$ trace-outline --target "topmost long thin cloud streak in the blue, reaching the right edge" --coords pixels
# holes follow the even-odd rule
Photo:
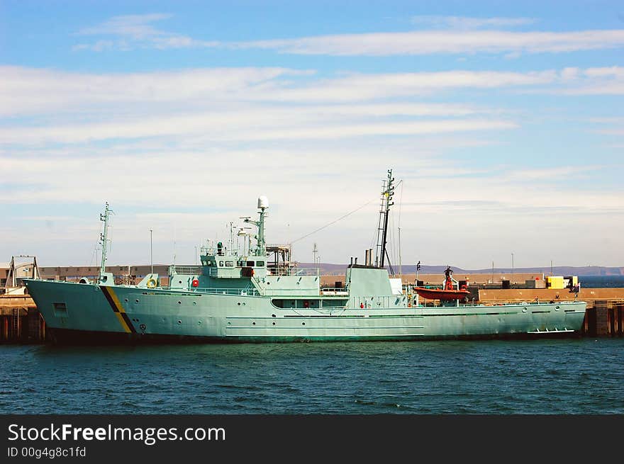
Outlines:
[[[170,15],[152,13],[136,16],[115,16],[98,26],[83,28],[78,35],[102,35],[114,39],[93,44],[80,43],[73,50],[132,50],[151,47],[226,48],[276,50],[296,55],[430,55],[436,53],[472,54],[503,53],[516,57],[520,53],[558,53],[603,50],[624,46],[624,30],[576,30],[566,32],[479,30],[484,27],[524,26],[532,18],[470,18],[459,16],[416,16],[417,23],[444,26],[442,30],[415,30],[399,33],[361,33],[319,35],[312,37],[224,42],[198,40],[186,35],[169,33],[152,26]],[[477,28],[477,30],[475,30]]]

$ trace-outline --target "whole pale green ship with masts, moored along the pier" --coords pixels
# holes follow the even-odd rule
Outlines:
[[[318,266],[300,268],[283,259],[289,258],[288,247],[267,245],[269,202],[264,196],[257,200],[257,220],[243,218],[252,228],[240,229],[243,246],[232,239],[230,229],[229,242],[201,247],[201,265],[169,266],[166,281],[149,273],[134,285],[116,283],[106,272],[106,203],[100,215],[99,278],[25,283],[52,341],[59,344],[412,341],[580,333],[586,310],[582,301],[496,306],[459,298],[420,301],[416,285],[402,285],[389,263],[386,237],[395,183],[392,171],[387,174],[376,257],[367,249],[364,264],[352,259],[341,288],[323,288]]]

